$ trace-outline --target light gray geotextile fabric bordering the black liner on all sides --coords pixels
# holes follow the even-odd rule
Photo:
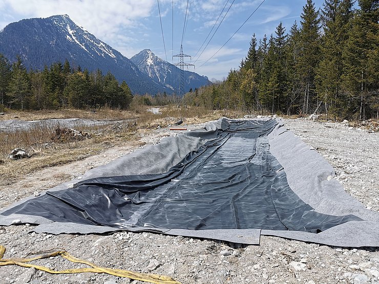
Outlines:
[[[189,152],[197,150],[209,141],[217,140],[219,129],[224,129],[227,123],[226,119],[220,119],[208,124],[203,129],[186,132],[177,137],[162,139],[157,145],[145,147],[112,163],[89,170],[82,176],[81,181],[99,177],[164,173],[182,161]],[[278,121],[277,126],[268,136],[260,136],[257,139],[257,150],[251,163],[261,164],[260,161],[264,159],[266,154],[263,148],[260,147],[265,144],[269,144],[270,154],[280,164],[277,164],[276,167],[283,167],[288,185],[292,191],[314,209],[310,211],[335,216],[351,214],[363,221],[349,221],[319,233],[268,229],[187,230],[151,227],[132,227],[124,230],[220,239],[243,244],[259,244],[260,235],[273,235],[332,246],[379,247],[379,234],[377,233],[379,231],[379,213],[367,210],[361,203],[348,195],[339,182],[332,179],[334,170],[324,158],[295,137],[283,126],[281,121]],[[242,144],[241,148],[243,149]],[[58,185],[49,191],[67,189],[70,184],[77,182],[78,180],[73,180]],[[2,214],[10,208],[32,199],[34,199],[34,196],[0,210],[0,225],[11,225],[12,223],[40,224],[34,231],[53,234],[109,233],[121,230],[108,226],[52,222],[41,216],[15,213],[10,215]]]

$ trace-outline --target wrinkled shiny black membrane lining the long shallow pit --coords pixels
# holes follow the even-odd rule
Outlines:
[[[116,228],[270,229],[317,233],[354,215],[315,212],[269,152],[269,121],[226,121],[218,138],[162,174],[84,180],[6,212]],[[309,189],[311,190],[311,189]]]

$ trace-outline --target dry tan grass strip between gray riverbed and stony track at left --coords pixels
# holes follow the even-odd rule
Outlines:
[[[136,133],[128,127],[113,129],[114,125],[98,127],[81,127],[83,132],[89,132],[91,138],[85,140],[70,140],[65,143],[54,142],[55,128],[37,127],[32,130],[0,133],[0,185],[7,185],[26,174],[45,167],[68,164],[85,159],[92,155],[119,145],[133,141],[132,144],[141,144]],[[9,152],[14,148],[24,148],[29,155],[28,159],[11,160]]]

